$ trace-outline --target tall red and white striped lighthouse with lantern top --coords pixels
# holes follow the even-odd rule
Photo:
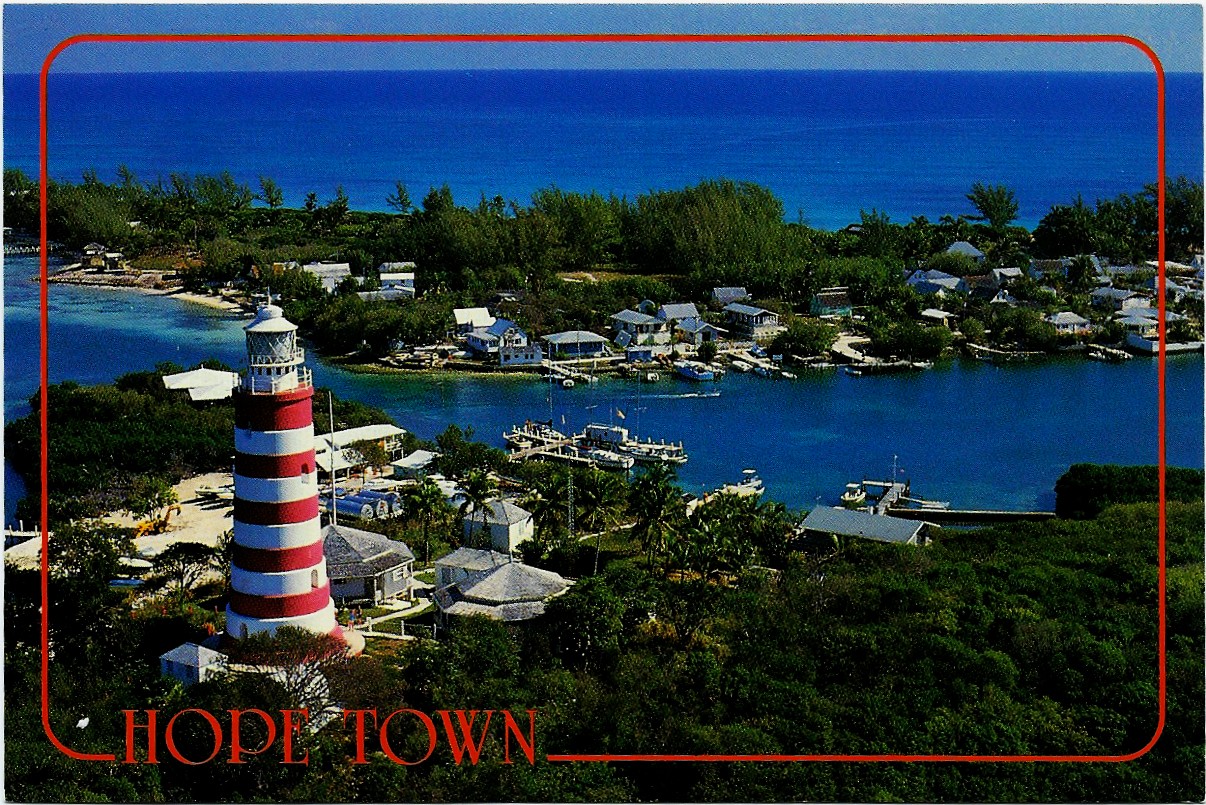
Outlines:
[[[280,626],[338,635],[318,519],[314,386],[297,325],[269,304],[245,331],[227,635],[238,640]]]

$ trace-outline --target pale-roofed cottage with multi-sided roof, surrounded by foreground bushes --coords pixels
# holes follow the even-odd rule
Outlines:
[[[548,601],[573,584],[551,571],[469,548],[438,559],[435,577],[432,597],[445,624],[458,616],[486,616],[505,623],[538,618]]]

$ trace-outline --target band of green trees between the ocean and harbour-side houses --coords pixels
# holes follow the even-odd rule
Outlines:
[[[6,221],[35,228],[33,182],[18,170],[7,170],[5,180]],[[89,173],[81,183],[52,183],[49,235],[70,247],[99,240],[124,251],[135,266],[178,269],[192,288],[271,285],[288,302],[287,314],[320,348],[369,356],[398,344],[438,340],[452,308],[482,304],[499,290],[522,298],[498,313],[544,334],[603,329],[610,314],[645,298],[704,302],[712,287],[721,285],[745,286],[759,304],[801,314],[820,288],[848,286],[856,308],[885,320],[873,333],[878,351],[903,352],[903,339],[921,355],[942,346],[935,340],[941,334],[918,337],[891,327],[915,320],[932,304],[904,285],[906,269],[924,264],[965,276],[1025,267],[1032,257],[1087,253],[1131,263],[1154,258],[1157,244],[1154,186],[1095,205],[1077,198],[1053,206],[1034,233],[1014,224],[1013,192],[983,182],[967,194],[974,215],[897,223],[870,210],[856,226],[838,232],[785,222],[783,204],[769,191],[725,179],[634,199],[549,187],[528,204],[482,197],[470,206],[458,205],[446,186],[432,188],[414,206],[399,185],[388,200],[393,212],[351,210],[338,188],[324,202],[310,193],[302,209],[286,209],[274,188],[264,177],[253,192],[228,174],[174,174],[148,183],[119,168],[117,181],[106,183]],[[1188,262],[1201,250],[1201,183],[1170,179],[1166,214],[1167,256]],[[985,263],[944,253],[956,240],[980,249]],[[350,263],[362,284],[345,284],[334,301],[315,278],[270,268],[330,257]],[[352,293],[375,287],[375,267],[398,259],[415,261],[418,299],[362,301]],[[942,307],[961,315],[970,340],[984,340],[987,333],[996,345],[1047,351],[1056,339],[1041,320],[1043,313],[1069,305],[1087,313],[1088,278],[1075,266],[1066,278],[1044,280],[1058,296],[1032,280],[1011,290],[1030,305],[1017,311],[1026,321],[1015,326],[996,326],[1001,314],[987,299],[952,294]],[[589,281],[564,281],[573,272],[589,275]],[[1177,310],[1193,314],[1195,322],[1200,317],[1188,308]],[[1106,338],[1117,342],[1120,334]]]

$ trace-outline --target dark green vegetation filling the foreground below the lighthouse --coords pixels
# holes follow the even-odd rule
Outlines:
[[[1052,753],[1136,751],[1157,723],[1155,507],[1012,525],[926,549],[850,543],[792,554],[727,584],[667,576],[636,546],[520,629],[458,624],[439,643],[387,644],[327,669],[349,706],[534,707],[538,757],[476,766],[441,747],[418,766],[355,746],[339,724],[305,735],[308,768],[83,764],[37,724],[36,574],[8,571],[6,794],[274,800],[1195,800],[1202,792],[1202,506],[1169,507],[1169,719],[1126,764],[555,764],[549,753]],[[295,694],[239,675],[183,690],[156,657],[189,634],[170,608],[131,618],[103,581],[117,543],[69,529],[55,552],[52,723],[78,749],[122,747],[121,707],[274,708]],[[59,535],[57,533],[57,539]],[[87,537],[88,548],[78,549]],[[96,546],[113,546],[98,550]],[[76,618],[87,608],[92,618]],[[87,730],[75,728],[90,717]],[[227,718],[224,714],[223,718]],[[398,746],[422,754],[418,736]],[[204,730],[183,751],[209,752]],[[270,753],[271,754],[271,753]]]

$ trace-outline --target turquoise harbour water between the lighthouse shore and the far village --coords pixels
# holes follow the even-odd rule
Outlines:
[[[36,262],[5,264],[5,420],[28,410],[37,386]],[[244,321],[136,292],[51,287],[51,380],[105,383],[159,361],[217,357],[238,366]],[[449,424],[502,447],[525,419],[580,428],[620,422],[655,439],[683,441],[691,491],[737,480],[754,467],[767,495],[794,508],[836,501],[842,486],[886,477],[892,456],[925,497],[959,507],[1050,508],[1055,479],[1079,461],[1155,463],[1157,362],[1060,360],[995,367],[953,361],[914,374],[851,378],[801,372],[797,380],[728,374],[714,385],[677,378],[643,385],[604,379],[550,389],[532,377],[363,375],[311,357],[315,379],[380,406],[402,427],[431,438]],[[1202,466],[1202,358],[1167,364],[1167,456]],[[701,390],[719,397],[683,397]],[[6,467],[11,519],[19,479]]]

